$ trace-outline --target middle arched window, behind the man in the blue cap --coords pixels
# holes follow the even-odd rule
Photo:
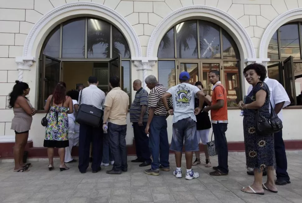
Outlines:
[[[208,72],[220,71],[220,80],[227,89],[228,106],[237,106],[242,99],[240,55],[236,43],[218,25],[189,20],[173,26],[158,48],[158,80],[167,88],[178,83],[176,72],[187,71],[191,83],[201,81],[211,94]]]

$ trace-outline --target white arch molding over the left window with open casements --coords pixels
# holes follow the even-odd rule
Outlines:
[[[116,27],[120,28],[124,34],[130,46],[131,56],[142,56],[141,46],[136,32],[130,23],[119,13],[109,7],[92,2],[69,3],[54,8],[41,17],[40,20],[32,27],[24,43],[23,55],[16,57],[16,63],[18,64],[19,70],[18,79],[22,80],[23,70],[30,70],[30,66],[35,62],[35,58],[38,57],[37,50],[40,50],[41,44],[43,44],[47,34],[50,32],[50,29],[53,29],[54,26],[70,19],[71,17],[79,17],[81,15],[83,16],[83,14],[85,14],[85,16],[99,16],[103,19],[108,18],[108,22],[116,25]],[[45,27],[48,28],[48,33],[41,36],[41,31],[45,31]],[[38,43],[40,46],[37,45]]]

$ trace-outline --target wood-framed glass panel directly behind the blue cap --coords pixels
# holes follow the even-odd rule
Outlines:
[[[190,84],[195,85],[197,81],[200,81],[200,63],[199,62],[191,62],[191,61],[178,61],[178,74],[177,79],[179,82],[179,74],[183,71],[186,71],[190,74]]]

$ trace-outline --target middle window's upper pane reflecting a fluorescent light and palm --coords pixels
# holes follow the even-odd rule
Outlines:
[[[176,25],[177,58],[197,59],[197,23],[196,20]]]

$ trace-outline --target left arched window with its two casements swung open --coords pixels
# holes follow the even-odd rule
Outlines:
[[[104,92],[109,91],[109,77],[119,75],[121,88],[130,97],[130,58],[124,35],[104,20],[81,17],[59,24],[40,52],[39,109],[59,81],[67,90],[76,89],[87,86],[91,75],[97,76]]]

